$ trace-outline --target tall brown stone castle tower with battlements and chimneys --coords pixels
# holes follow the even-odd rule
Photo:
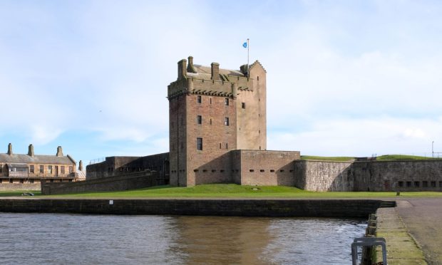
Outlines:
[[[241,71],[178,62],[168,85],[170,184],[232,182],[229,152],[266,150],[266,72],[256,61]]]

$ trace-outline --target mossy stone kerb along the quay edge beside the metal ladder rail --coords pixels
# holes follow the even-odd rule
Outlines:
[[[421,247],[411,237],[396,208],[379,208],[376,212],[376,237],[386,239],[389,264],[427,264]],[[382,260],[381,249],[376,249],[376,261]]]

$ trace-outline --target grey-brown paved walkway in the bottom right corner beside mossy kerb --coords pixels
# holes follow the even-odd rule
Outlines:
[[[396,202],[396,212],[421,246],[428,264],[442,264],[442,198],[409,198]]]

